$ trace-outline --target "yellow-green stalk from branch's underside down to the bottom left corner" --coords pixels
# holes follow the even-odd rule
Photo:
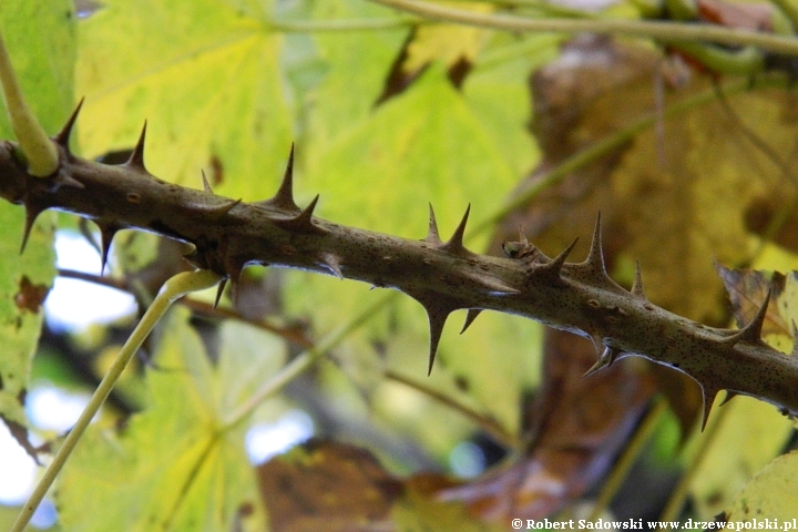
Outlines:
[[[44,471],[44,475],[41,480],[39,480],[39,483],[34,488],[30,498],[28,498],[28,501],[22,507],[11,532],[22,532],[25,528],[33,515],[33,512],[44,498],[44,494],[55,480],[59,471],[61,471],[61,468],[63,468],[66,459],[72,453],[75,444],[83,436],[86,427],[89,427],[92,418],[94,418],[94,415],[96,415],[109,393],[111,393],[111,389],[116,383],[116,380],[119,380],[122,371],[124,371],[125,367],[127,367],[131,358],[133,358],[144,339],[150,335],[150,331],[153,327],[155,327],[155,324],[157,324],[157,321],[163,317],[170,306],[176,299],[183,297],[190,291],[209,288],[218,282],[219,276],[217,274],[203,269],[180,273],[164,283],[161,291],[155,297],[147,311],[144,313],[144,316],[131,334],[130,338],[127,338],[127,341],[125,341],[125,345],[122,347],[116,356],[116,359],[109,368],[105,377],[103,377],[100,386],[98,386],[96,390],[94,390],[94,395],[89,400],[89,403],[85,409],[83,409],[83,412],[81,412],[80,418],[78,418],[78,421],[66,436],[66,439],[53,458],[52,462],[48,466]]]

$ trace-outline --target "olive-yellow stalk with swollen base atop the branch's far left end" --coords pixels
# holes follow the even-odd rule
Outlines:
[[[59,167],[59,153],[22,95],[6,42],[0,35],[0,83],[11,127],[20,150],[28,158],[28,173],[35,177],[52,175]]]

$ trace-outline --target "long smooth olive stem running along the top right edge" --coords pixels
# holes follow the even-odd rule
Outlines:
[[[376,3],[440,20],[480,28],[507,31],[616,33],[656,39],[661,42],[714,42],[717,44],[751,45],[786,55],[798,55],[798,40],[792,37],[726,28],[717,24],[662,22],[622,19],[528,19],[507,14],[485,14],[464,11],[419,0],[372,0]]]

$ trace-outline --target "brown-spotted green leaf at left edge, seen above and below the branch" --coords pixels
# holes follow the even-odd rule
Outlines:
[[[48,132],[61,129],[70,113],[75,58],[74,13],[69,0],[0,2],[2,30],[11,61],[29,105]],[[0,137],[13,139],[6,113]],[[0,418],[28,446],[24,393],[41,330],[41,303],[55,275],[53,216],[45,213],[20,255],[24,212],[0,205]]]

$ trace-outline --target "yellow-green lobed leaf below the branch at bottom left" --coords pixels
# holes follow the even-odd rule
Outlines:
[[[214,531],[245,520],[264,530],[244,430],[225,416],[283,365],[284,349],[225,324],[214,367],[187,320],[178,307],[164,323],[149,408],[121,437],[92,426],[75,449],[58,491],[64,529]]]

